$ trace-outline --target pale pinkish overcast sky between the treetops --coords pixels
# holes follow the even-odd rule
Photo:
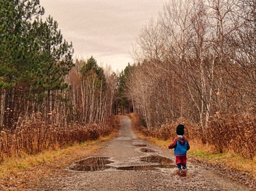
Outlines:
[[[122,71],[143,25],[166,0],[41,0],[45,16],[59,24],[64,39],[72,41],[74,58],[94,56],[98,65]]]

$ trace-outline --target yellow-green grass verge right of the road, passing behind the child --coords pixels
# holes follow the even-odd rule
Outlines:
[[[172,139],[164,141],[154,137],[147,137],[139,131],[135,132],[141,139],[146,139],[164,148],[167,148],[172,141]],[[190,150],[188,150],[188,157],[192,157],[201,162],[208,162],[208,164],[212,164],[213,166],[236,169],[238,171],[250,173],[256,181],[256,158],[250,160],[232,153],[215,154],[212,147],[209,147],[208,145],[203,145],[196,141],[189,141],[189,144]]]

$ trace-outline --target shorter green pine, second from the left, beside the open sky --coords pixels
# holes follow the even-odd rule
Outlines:
[[[38,86],[43,90],[61,90],[67,87],[63,77],[67,75],[74,64],[72,63],[72,44],[63,39],[58,24],[51,16],[45,22],[37,20],[33,23],[38,34]]]

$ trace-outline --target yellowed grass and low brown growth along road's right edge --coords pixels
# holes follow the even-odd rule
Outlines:
[[[172,139],[177,136],[175,135],[175,133],[173,136],[165,137],[165,139],[163,139],[162,137],[159,138],[157,136],[152,136],[150,131],[145,131],[145,128],[141,128],[139,126],[139,120],[136,116],[130,115],[130,118],[132,119],[132,126],[134,127],[135,132],[141,139],[147,139],[148,141],[151,141],[156,145],[159,145],[160,147],[164,147],[167,149]],[[213,164],[215,166],[224,166],[227,168],[236,169],[238,171],[248,172],[253,176],[253,179],[255,179],[256,181],[255,156],[253,156],[253,158],[246,158],[244,157],[244,155],[233,152],[232,150],[219,153],[216,150],[216,147],[214,147],[213,145],[204,144],[201,141],[195,139],[188,139],[188,141],[190,144],[190,150],[188,150],[188,157],[197,158],[201,162],[208,162],[209,164]],[[252,147],[252,149],[254,148]]]

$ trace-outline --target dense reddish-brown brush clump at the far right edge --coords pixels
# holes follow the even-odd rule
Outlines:
[[[253,114],[223,114],[210,118],[206,130],[208,143],[216,147],[217,152],[231,150],[245,158],[256,154],[256,116]]]

